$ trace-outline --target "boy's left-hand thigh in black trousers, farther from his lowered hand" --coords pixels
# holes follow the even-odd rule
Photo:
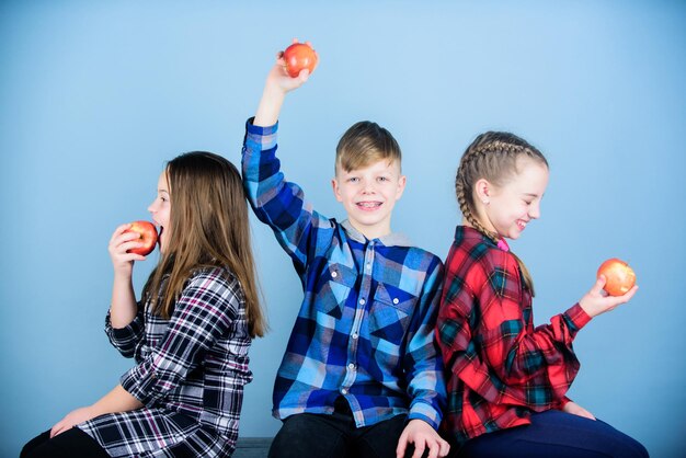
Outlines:
[[[284,421],[270,447],[270,458],[344,458],[352,421],[334,413],[298,413]]]

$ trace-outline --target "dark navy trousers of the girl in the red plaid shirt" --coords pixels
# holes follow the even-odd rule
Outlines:
[[[637,440],[607,423],[549,410],[531,415],[531,424],[487,433],[462,448],[450,446],[456,458],[648,458]]]

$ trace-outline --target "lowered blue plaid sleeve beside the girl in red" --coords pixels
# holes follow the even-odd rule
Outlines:
[[[446,405],[446,389],[443,378],[443,360],[434,337],[434,327],[441,299],[443,265],[436,262],[427,273],[419,304],[420,312],[410,324],[414,332],[408,336],[408,353],[404,357],[408,374],[410,403],[409,420],[423,420],[438,428]]]

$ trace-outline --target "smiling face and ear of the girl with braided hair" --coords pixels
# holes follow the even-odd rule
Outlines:
[[[500,237],[517,239],[531,219],[540,217],[540,201],[548,186],[548,168],[529,158],[517,159],[517,172],[502,185],[477,182],[479,220]]]

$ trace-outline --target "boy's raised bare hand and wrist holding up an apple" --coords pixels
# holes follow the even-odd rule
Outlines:
[[[294,39],[293,42],[297,43],[298,41]],[[262,92],[262,99],[260,100],[253,124],[261,127],[276,124],[286,94],[305,84],[309,77],[309,70],[304,69],[300,70],[296,78],[290,78],[286,72],[284,51],[279,51],[276,55],[276,62],[266,77],[264,91]]]

